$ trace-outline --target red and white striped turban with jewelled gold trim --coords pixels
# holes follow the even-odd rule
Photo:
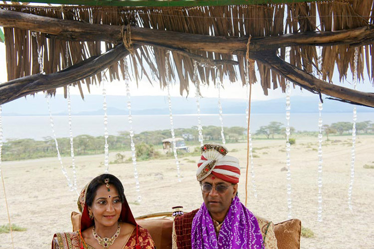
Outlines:
[[[209,174],[223,181],[239,182],[240,167],[236,157],[226,156],[227,149],[219,144],[205,144],[201,147],[201,158],[197,164],[196,178],[201,182]]]

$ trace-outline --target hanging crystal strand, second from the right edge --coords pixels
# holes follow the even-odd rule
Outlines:
[[[322,80],[322,47],[320,47],[320,56],[318,56],[318,78]],[[322,222],[322,109],[323,105],[321,99],[318,103],[318,111],[319,111],[319,118],[318,118],[318,209],[317,209],[317,221]]]

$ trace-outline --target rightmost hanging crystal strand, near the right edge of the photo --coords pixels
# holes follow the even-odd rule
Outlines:
[[[357,89],[357,82],[358,82],[358,72],[357,72],[357,63],[359,60],[359,48],[355,47],[355,67],[354,67],[354,74],[353,74],[353,86],[354,89]],[[351,180],[350,185],[348,188],[348,207],[352,210],[352,189],[353,189],[353,182],[355,180],[355,144],[356,144],[356,120],[357,120],[357,110],[356,107],[353,108],[353,126],[352,126],[352,149],[351,149]]]

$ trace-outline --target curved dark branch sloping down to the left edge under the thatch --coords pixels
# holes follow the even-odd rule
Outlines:
[[[92,56],[59,72],[38,73],[2,83],[0,84],[0,105],[28,94],[66,86],[93,76],[129,53],[125,46],[120,44],[100,56]]]

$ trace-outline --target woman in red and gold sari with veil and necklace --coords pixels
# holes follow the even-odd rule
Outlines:
[[[80,230],[55,234],[52,249],[155,249],[148,231],[136,224],[117,177],[94,178],[82,189],[78,209]]]

